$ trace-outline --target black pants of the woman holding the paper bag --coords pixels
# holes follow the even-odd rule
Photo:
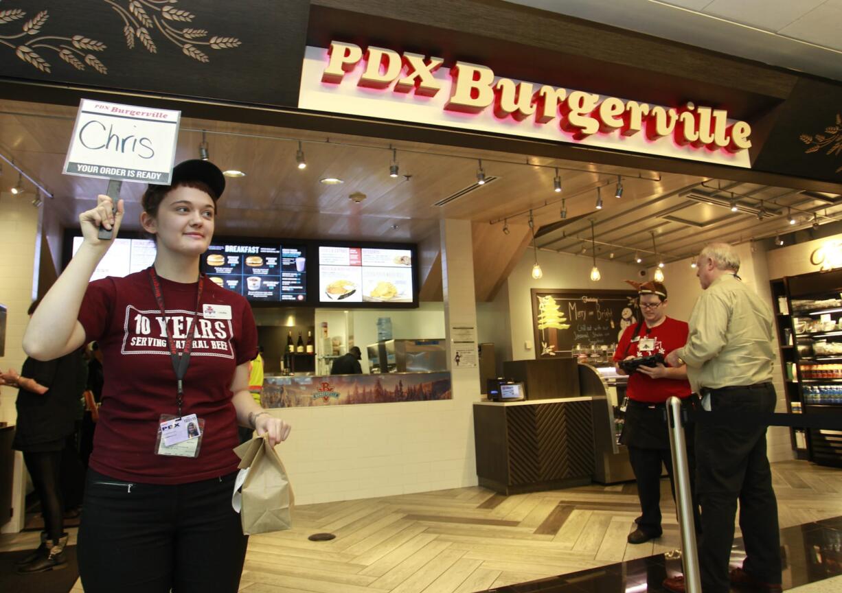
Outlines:
[[[78,547],[85,592],[236,593],[248,544],[231,507],[236,476],[128,484],[88,469]]]

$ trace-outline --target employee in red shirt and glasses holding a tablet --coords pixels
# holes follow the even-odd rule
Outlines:
[[[643,319],[629,326],[617,345],[614,361],[617,373],[627,374],[620,367],[624,359],[672,352],[687,342],[688,326],[684,321],[667,317],[667,289],[659,282],[637,283],[626,280],[637,288]],[[661,464],[669,474],[669,485],[675,498],[673,467],[669,454],[664,405],[669,397],[690,397],[690,383],[684,366],[672,368],[663,363],[641,366],[629,376],[626,390],[626,422],[622,443],[628,447],[629,460],[637,479],[637,497],[640,499],[641,516],[637,528],[629,533],[629,543],[644,543],[661,535]],[[688,442],[692,438],[688,437]],[[694,465],[690,463],[690,480],[693,481]],[[695,490],[695,489],[693,489]],[[696,506],[694,504],[694,509]],[[695,511],[698,526],[698,511]]]

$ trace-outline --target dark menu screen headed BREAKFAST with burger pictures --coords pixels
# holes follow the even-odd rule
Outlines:
[[[306,299],[306,256],[302,247],[214,244],[201,258],[211,282],[254,302]]]

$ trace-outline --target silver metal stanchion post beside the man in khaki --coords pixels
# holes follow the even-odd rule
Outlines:
[[[675,507],[679,515],[681,563],[684,565],[685,590],[687,593],[701,593],[699,553],[695,547],[693,497],[690,492],[690,469],[687,466],[687,442],[685,441],[684,423],[681,418],[681,400],[677,397],[673,396],[667,400],[667,421],[669,449],[673,458]]]

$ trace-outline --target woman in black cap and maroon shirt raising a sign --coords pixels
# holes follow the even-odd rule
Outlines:
[[[172,185],[150,185],[141,225],[152,267],[88,284],[117,236],[123,201],[79,216],[83,245],[45,295],[24,335],[42,360],[96,340],[105,383],[79,528],[87,593],[236,591],[247,538],[231,495],[237,423],[272,445],[290,426],[248,393],[257,331],[248,302],[200,275],[225,188],[208,161],[184,161]],[[189,438],[195,421],[200,437]]]

